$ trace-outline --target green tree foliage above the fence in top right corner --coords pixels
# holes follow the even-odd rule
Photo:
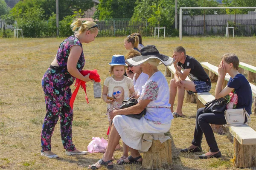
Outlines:
[[[256,0],[223,0],[225,6],[256,6]],[[248,14],[248,11],[254,11],[255,9],[227,9],[227,14]]]

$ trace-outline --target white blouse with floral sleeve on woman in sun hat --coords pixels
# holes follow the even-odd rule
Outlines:
[[[157,71],[145,83],[139,98],[152,100],[146,106],[145,119],[155,124],[169,123],[173,119],[169,96],[168,82],[161,71]]]

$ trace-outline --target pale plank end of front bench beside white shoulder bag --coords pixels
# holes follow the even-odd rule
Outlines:
[[[230,126],[228,127],[232,136],[234,136],[240,144],[253,145],[256,144],[256,131],[248,125]]]

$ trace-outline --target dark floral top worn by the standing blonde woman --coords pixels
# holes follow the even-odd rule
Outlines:
[[[79,71],[81,71],[84,68],[85,59],[84,59],[82,43],[79,41],[79,39],[77,37],[72,35],[72,36],[68,37],[66,40],[64,40],[63,42],[61,42],[61,45],[58,48],[57,62],[59,65],[59,69],[61,69],[61,72],[67,72],[67,58],[70,54],[70,48],[73,45],[79,45],[82,48],[82,52],[81,52],[79,60],[76,64],[76,68]]]

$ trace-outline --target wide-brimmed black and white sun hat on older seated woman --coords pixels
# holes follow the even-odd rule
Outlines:
[[[126,62],[128,65],[131,66],[137,66],[142,64],[143,62],[147,61],[150,58],[157,58],[160,59],[160,61],[165,65],[169,66],[173,63],[173,58],[168,57],[166,55],[160,54],[157,50],[156,46],[154,45],[147,45],[140,50],[140,56],[133,57],[130,59],[127,59]]]

